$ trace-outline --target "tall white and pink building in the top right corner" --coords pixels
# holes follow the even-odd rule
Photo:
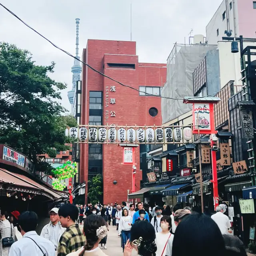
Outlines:
[[[223,0],[206,26],[208,44],[222,40],[225,30],[232,30],[232,36],[255,38],[256,2],[252,0]]]

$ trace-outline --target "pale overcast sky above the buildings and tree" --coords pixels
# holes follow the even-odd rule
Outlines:
[[[175,42],[188,43],[194,34],[206,35],[205,28],[222,0],[0,0],[22,20],[60,48],[75,55],[76,18],[80,18],[80,45],[87,39],[132,40],[137,42],[140,62],[166,63]],[[72,4],[71,4],[72,3]],[[56,62],[52,78],[66,82],[62,105],[70,110],[67,92],[72,88],[74,60],[54,48],[0,6],[0,41],[32,52],[38,65]],[[122,81],[120,81],[122,82]],[[127,90],[130,90],[127,88]]]

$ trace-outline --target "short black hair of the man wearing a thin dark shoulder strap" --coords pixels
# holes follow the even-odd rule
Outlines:
[[[22,212],[19,216],[18,224],[24,232],[35,231],[38,224],[38,216],[35,212]]]

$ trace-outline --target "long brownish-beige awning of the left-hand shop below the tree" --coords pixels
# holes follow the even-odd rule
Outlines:
[[[52,200],[63,197],[62,194],[52,191],[22,174],[12,173],[2,168],[0,168],[0,189],[40,194]]]

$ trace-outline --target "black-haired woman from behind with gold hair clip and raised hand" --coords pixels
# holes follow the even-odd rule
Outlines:
[[[156,256],[156,232],[148,221],[136,221],[131,228],[131,240],[124,246],[124,256]]]

